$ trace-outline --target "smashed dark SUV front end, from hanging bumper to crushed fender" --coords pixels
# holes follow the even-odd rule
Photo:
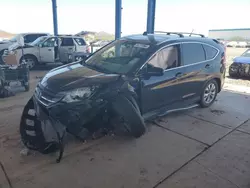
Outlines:
[[[121,108],[121,97],[132,100],[125,101]],[[107,133],[114,129],[111,124],[117,114],[132,123],[133,127],[141,127],[137,131],[139,137],[144,133],[145,125],[140,109],[135,108],[136,92],[129,81],[119,79],[108,85],[98,86],[86,98],[65,102],[65,95],[57,95],[38,84],[34,96],[24,108],[20,133],[24,145],[43,154],[60,150],[57,162],[60,162],[64,150],[65,133],[70,133],[81,140],[101,131]],[[128,104],[126,104],[128,103]],[[132,104],[132,105],[131,105]],[[129,117],[126,111],[134,111]],[[133,125],[134,124],[134,125]],[[132,129],[133,130],[133,129]]]

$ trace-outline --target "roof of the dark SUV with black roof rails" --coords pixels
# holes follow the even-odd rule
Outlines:
[[[185,41],[193,41],[193,42],[203,42],[203,43],[218,43],[216,39],[207,38],[207,37],[200,37],[200,36],[183,36],[180,37],[178,34],[175,35],[166,35],[166,34],[147,34],[147,35],[129,35],[122,37],[121,40],[132,40],[136,42],[152,44],[152,45],[159,45],[162,43],[167,43],[171,41],[175,42],[185,42]]]

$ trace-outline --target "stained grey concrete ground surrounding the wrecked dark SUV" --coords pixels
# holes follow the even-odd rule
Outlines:
[[[227,49],[228,65],[244,50]],[[138,140],[72,139],[62,162],[55,164],[57,154],[20,155],[22,109],[46,72],[31,72],[30,92],[0,100],[0,188],[250,186],[248,80],[227,78],[211,108],[148,123],[148,133]]]

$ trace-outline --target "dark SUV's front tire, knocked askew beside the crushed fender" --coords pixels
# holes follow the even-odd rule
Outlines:
[[[112,105],[116,114],[124,118],[127,128],[129,129],[129,133],[133,137],[139,138],[145,133],[145,122],[140,114],[140,111],[129,99],[120,95],[116,98]]]

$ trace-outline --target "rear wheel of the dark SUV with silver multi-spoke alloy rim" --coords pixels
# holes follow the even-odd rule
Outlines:
[[[201,101],[200,105],[202,108],[207,108],[211,106],[218,94],[218,83],[216,80],[210,80],[208,81],[205,86],[203,87],[203,91],[201,94]]]

